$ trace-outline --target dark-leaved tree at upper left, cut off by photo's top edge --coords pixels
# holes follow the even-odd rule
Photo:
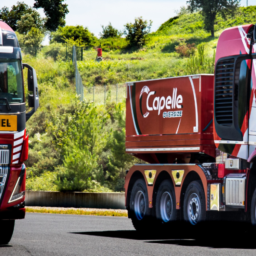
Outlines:
[[[43,8],[47,17],[45,27],[51,32],[58,29],[59,26],[65,26],[65,16],[69,13],[67,4],[62,4],[64,0],[35,0],[36,9]]]

